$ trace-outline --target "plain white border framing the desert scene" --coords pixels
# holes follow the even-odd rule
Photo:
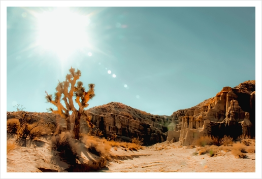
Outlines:
[[[7,7],[256,7],[256,173],[7,173],[6,126],[1,125],[1,178],[261,178],[261,1],[1,1],[1,124],[6,118]],[[3,139],[4,138],[4,139]],[[228,165],[230,165],[228,163]]]

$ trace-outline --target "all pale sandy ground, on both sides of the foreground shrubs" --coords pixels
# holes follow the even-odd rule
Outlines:
[[[247,153],[245,159],[223,151],[215,157],[196,156],[195,148],[179,147],[178,142],[163,142],[139,151],[121,148],[111,151],[122,159],[107,162],[105,168],[93,172],[255,172],[255,154]],[[17,147],[7,155],[7,172],[42,172],[39,167],[49,169],[48,172],[61,171],[59,166],[51,164],[51,156],[44,140],[35,146]]]

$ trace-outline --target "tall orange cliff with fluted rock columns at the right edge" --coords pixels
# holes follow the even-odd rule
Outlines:
[[[224,87],[215,97],[172,114],[179,140],[190,145],[195,136],[255,135],[255,81]]]

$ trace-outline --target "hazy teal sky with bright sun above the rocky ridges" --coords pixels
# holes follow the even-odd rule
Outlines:
[[[7,111],[55,107],[71,66],[95,84],[86,109],[172,115],[255,80],[255,7],[7,7]]]

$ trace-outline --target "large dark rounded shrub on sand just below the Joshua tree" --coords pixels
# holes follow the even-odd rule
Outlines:
[[[51,150],[58,152],[62,161],[75,164],[77,160],[77,145],[69,132],[61,132],[51,138]]]

